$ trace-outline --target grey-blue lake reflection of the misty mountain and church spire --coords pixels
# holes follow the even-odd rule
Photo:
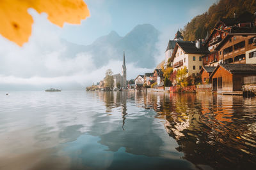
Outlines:
[[[108,146],[113,152],[124,147],[127,153],[159,156],[163,141],[159,134],[154,132],[154,129],[157,129],[152,118],[155,112],[148,111],[147,115],[140,115],[137,111],[130,111],[127,99],[131,100],[133,93],[99,92],[99,95],[104,96],[106,111],[111,115],[97,117],[93,121],[90,134],[99,136],[99,143]]]

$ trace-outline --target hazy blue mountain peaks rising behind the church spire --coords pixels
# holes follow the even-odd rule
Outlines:
[[[152,68],[154,54],[157,52],[156,42],[159,31],[150,24],[137,25],[124,37],[111,31],[106,36],[101,36],[92,45],[76,45],[63,41],[67,49],[63,55],[75,57],[76,53],[89,53],[97,67],[108,64],[109,60],[122,60],[122,53],[125,50],[127,63],[135,62],[140,67]],[[99,62],[100,61],[100,62]]]

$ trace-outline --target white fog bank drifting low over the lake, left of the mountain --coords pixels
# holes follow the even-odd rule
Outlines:
[[[102,80],[106,69],[121,73],[122,61],[110,60],[105,66],[97,68],[90,53],[64,57],[67,44],[61,42],[61,28],[51,24],[44,13],[39,15],[34,10],[29,10],[29,13],[35,23],[28,43],[20,48],[0,37],[0,46],[3,47],[0,48],[0,89],[8,89],[9,86],[17,88],[19,85],[28,90],[50,86],[74,89]],[[129,79],[148,71],[152,70],[127,64]]]

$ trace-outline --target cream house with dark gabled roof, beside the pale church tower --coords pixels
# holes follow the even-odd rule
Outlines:
[[[171,57],[173,71],[186,66],[189,75],[198,74],[203,66],[202,57],[207,53],[200,41],[177,42]]]

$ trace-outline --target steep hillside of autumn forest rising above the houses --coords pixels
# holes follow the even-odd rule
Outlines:
[[[220,18],[239,16],[243,11],[254,13],[256,0],[220,0],[212,4],[209,10],[194,17],[182,30],[184,40],[205,38]]]

